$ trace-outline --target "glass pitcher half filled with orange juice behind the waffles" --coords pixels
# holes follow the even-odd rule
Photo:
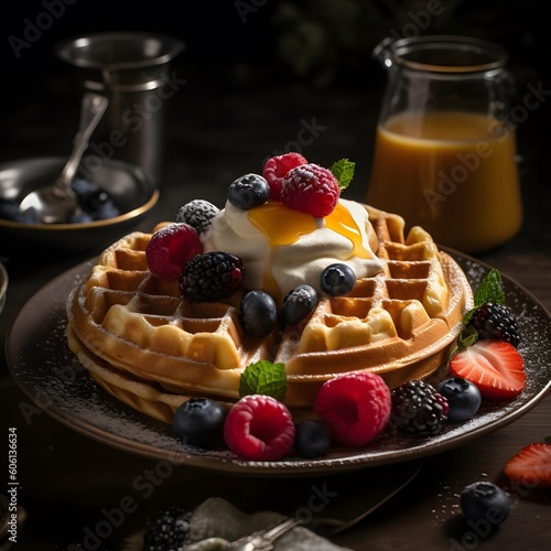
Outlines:
[[[388,69],[367,203],[468,253],[522,220],[507,53],[462,36],[383,41]]]

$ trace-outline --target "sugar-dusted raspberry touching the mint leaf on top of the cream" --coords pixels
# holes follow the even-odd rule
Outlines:
[[[339,195],[337,179],[317,164],[302,164],[283,177],[281,202],[289,208],[316,218],[331,214]]]

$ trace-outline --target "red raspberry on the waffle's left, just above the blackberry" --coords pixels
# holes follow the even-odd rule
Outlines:
[[[184,266],[203,252],[203,244],[195,229],[187,224],[173,223],[158,229],[145,249],[151,273],[166,281],[175,281]]]

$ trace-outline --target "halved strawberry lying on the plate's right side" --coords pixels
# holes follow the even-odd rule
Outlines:
[[[522,356],[503,341],[483,339],[467,346],[452,357],[450,371],[476,385],[482,397],[490,400],[514,398],[526,383]]]

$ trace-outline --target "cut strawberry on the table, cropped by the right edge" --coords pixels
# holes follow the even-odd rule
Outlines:
[[[526,489],[551,488],[551,444],[538,442],[525,446],[507,462],[504,473]]]

